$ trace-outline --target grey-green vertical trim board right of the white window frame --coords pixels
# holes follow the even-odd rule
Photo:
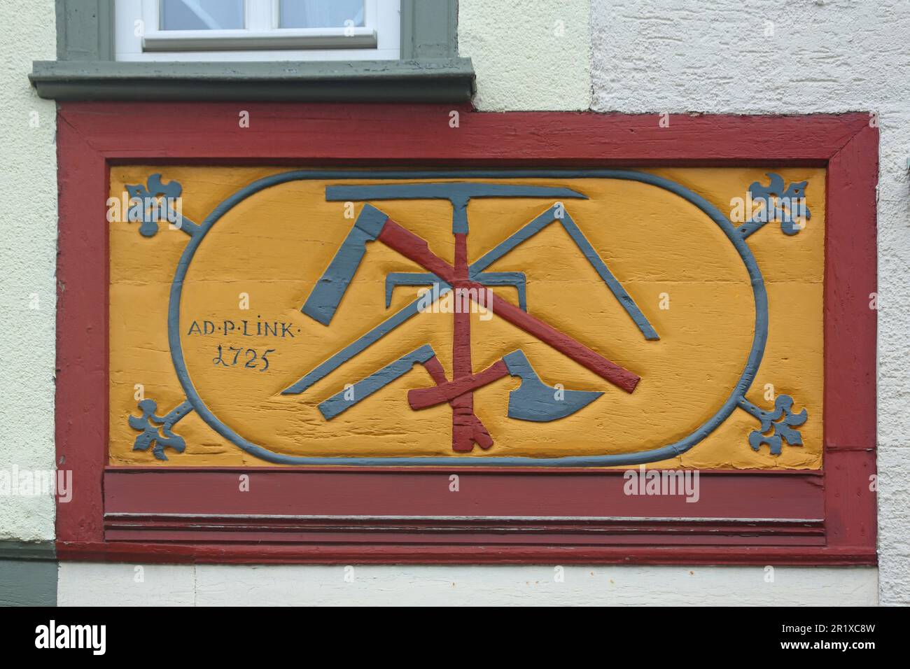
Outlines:
[[[458,0],[401,0],[401,60],[458,56]]]

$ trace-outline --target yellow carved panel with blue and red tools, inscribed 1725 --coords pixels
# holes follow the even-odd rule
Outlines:
[[[819,469],[824,184],[112,167],[110,461]]]

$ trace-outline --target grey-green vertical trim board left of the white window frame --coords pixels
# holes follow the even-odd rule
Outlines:
[[[114,60],[114,0],[56,0],[57,60]]]

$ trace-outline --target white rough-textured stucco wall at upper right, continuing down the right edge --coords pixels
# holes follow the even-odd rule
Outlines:
[[[768,25],[765,21],[771,21]],[[765,35],[766,28],[773,35]],[[768,31],[770,32],[770,31]],[[910,3],[594,0],[596,111],[874,111],[881,602],[910,603]],[[773,147],[769,147],[773,152]]]

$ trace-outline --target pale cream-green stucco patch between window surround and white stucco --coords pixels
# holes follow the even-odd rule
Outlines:
[[[477,72],[474,104],[587,109],[591,102],[588,0],[460,0],[459,55]]]

